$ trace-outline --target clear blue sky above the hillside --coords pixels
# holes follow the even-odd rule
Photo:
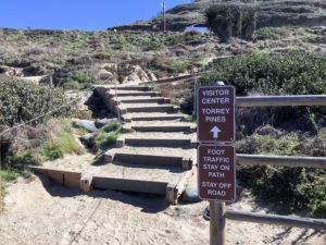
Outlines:
[[[149,20],[162,0],[0,0],[0,28],[101,30]],[[170,9],[190,0],[166,0]]]

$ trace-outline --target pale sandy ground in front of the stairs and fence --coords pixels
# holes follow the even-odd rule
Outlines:
[[[164,197],[95,191],[85,195],[47,179],[10,184],[0,215],[0,245],[204,245],[206,201],[166,206]],[[256,209],[249,198],[228,208]],[[325,233],[254,223],[227,223],[227,244],[324,245]]]

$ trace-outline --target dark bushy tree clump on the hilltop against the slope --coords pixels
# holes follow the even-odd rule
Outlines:
[[[206,25],[222,41],[231,37],[251,39],[256,26],[256,5],[214,3],[205,10]]]

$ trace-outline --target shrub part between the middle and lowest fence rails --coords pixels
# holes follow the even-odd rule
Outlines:
[[[240,167],[238,180],[264,201],[286,212],[308,210],[326,217],[326,171],[286,167]]]

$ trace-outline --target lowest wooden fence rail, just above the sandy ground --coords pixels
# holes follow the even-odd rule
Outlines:
[[[315,230],[326,230],[326,220],[322,220],[322,219],[308,219],[308,218],[299,218],[299,217],[240,212],[240,211],[226,211],[225,217],[226,219],[236,220],[236,221],[266,223],[266,224],[276,224],[276,225],[285,225],[285,226],[293,226],[293,228],[315,229]]]

